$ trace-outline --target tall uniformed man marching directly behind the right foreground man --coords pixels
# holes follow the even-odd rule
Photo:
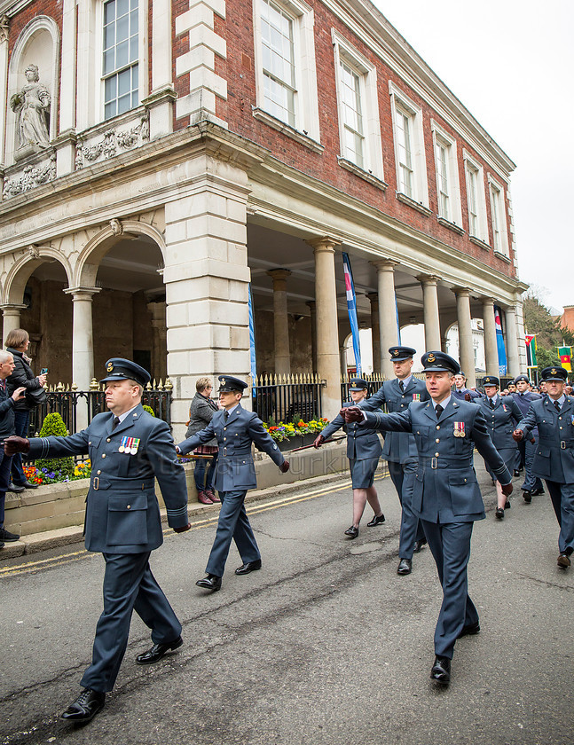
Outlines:
[[[389,355],[396,378],[384,380],[381,388],[366,400],[366,411],[375,411],[387,404],[389,413],[405,412],[412,401],[428,401],[429,393],[422,380],[413,376],[411,347],[390,347]],[[406,432],[389,432],[385,435],[382,458],[387,461],[389,476],[401,503],[401,531],[398,542],[397,574],[411,574],[413,553],[421,551],[427,543],[421,523],[413,514],[413,484],[417,464],[417,449],[413,435]]]

